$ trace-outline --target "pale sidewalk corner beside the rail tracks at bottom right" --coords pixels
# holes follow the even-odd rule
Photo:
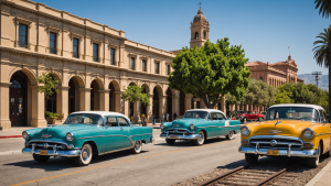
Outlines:
[[[328,163],[306,186],[330,186],[331,162]]]

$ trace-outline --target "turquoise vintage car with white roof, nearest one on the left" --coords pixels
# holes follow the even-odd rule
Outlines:
[[[75,157],[78,165],[88,165],[93,155],[131,150],[138,154],[142,143],[152,143],[152,128],[136,127],[117,112],[81,111],[67,117],[63,125],[36,128],[22,133],[25,147],[43,163],[50,156]]]

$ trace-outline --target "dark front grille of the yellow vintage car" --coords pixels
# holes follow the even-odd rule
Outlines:
[[[276,144],[271,145],[271,141],[276,141]],[[274,141],[274,142],[275,142]],[[271,136],[253,136],[249,139],[249,145],[256,146],[258,143],[260,149],[279,149],[287,150],[289,144],[291,149],[300,149],[303,144],[302,140],[299,138],[284,136],[284,135],[271,135]]]

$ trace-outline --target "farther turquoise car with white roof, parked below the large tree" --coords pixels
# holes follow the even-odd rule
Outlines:
[[[193,109],[188,110],[182,119],[163,122],[160,127],[160,138],[166,139],[168,144],[175,140],[190,140],[202,145],[206,139],[224,135],[232,140],[233,134],[239,132],[241,121],[228,120],[220,110]]]

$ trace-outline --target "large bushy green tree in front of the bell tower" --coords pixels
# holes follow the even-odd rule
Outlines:
[[[207,108],[214,108],[227,94],[238,100],[250,76],[244,52],[242,46],[229,46],[227,37],[215,44],[206,41],[203,47],[183,47],[172,59],[169,86],[202,98]]]

